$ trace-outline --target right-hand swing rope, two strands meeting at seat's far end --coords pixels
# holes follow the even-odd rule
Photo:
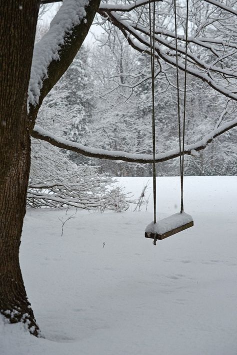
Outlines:
[[[179,166],[180,166],[180,189],[181,203],[180,213],[183,212],[183,176],[184,176],[184,137],[185,137],[185,113],[186,113],[186,82],[187,82],[187,26],[188,26],[188,0],[186,4],[185,23],[185,66],[184,66],[184,95],[183,95],[183,120],[182,120],[182,144],[181,144],[181,119],[180,119],[180,95],[178,78],[178,53],[177,53],[177,12],[176,0],[174,0],[174,26],[175,26],[175,56],[176,56],[176,86],[177,86],[177,111],[178,111],[178,137],[179,137]]]

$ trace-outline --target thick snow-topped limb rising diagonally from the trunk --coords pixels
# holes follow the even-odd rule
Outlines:
[[[79,50],[98,6],[99,0],[64,0],[48,32],[36,43],[29,83],[31,129],[43,98]]]

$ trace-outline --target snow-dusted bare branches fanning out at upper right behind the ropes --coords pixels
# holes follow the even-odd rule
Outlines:
[[[136,7],[129,4],[118,9],[104,3],[98,12],[104,20],[120,29],[133,48],[149,54],[147,1],[139,1],[138,5],[137,1],[135,3]],[[184,71],[183,27],[186,13],[181,2],[178,7],[178,68]],[[207,1],[193,1],[190,7],[186,67],[188,74],[198,77],[224,96],[237,100],[237,20],[233,14],[236,10],[217,1],[211,1],[211,4]],[[174,12],[170,1],[162,1],[157,7],[155,56],[160,62],[176,66]]]

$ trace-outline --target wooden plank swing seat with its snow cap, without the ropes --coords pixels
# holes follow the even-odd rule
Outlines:
[[[145,238],[162,240],[193,226],[193,219],[185,212],[175,213],[145,228]]]

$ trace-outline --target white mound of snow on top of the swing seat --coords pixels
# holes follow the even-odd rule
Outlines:
[[[172,229],[178,228],[183,226],[184,224],[187,224],[189,222],[192,222],[193,219],[190,215],[187,213],[174,213],[171,216],[168,216],[166,218],[163,218],[156,223],[151,222],[146,226],[145,232],[146,233],[157,233],[157,234],[164,234]]]

